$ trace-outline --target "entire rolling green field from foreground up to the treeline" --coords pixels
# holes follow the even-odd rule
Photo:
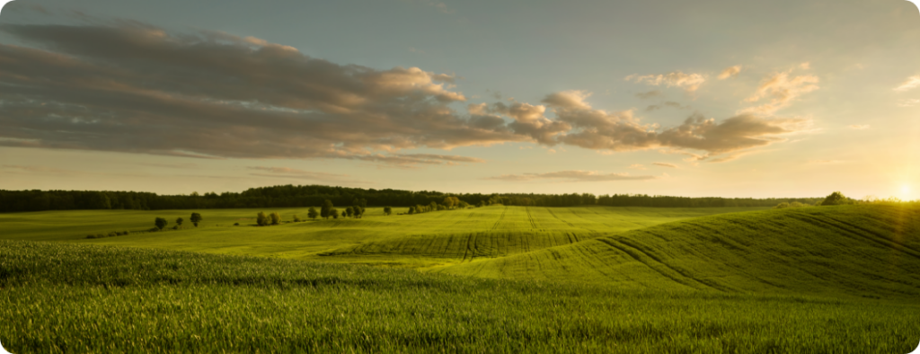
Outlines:
[[[920,208],[0,214],[21,352],[910,353]],[[188,223],[188,222],[187,222]],[[233,226],[240,223],[240,226]],[[187,225],[190,226],[190,225]],[[87,239],[86,234],[132,234]],[[53,242],[36,242],[53,241]]]

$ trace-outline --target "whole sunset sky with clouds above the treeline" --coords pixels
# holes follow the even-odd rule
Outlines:
[[[12,0],[0,189],[920,199],[911,1]]]

